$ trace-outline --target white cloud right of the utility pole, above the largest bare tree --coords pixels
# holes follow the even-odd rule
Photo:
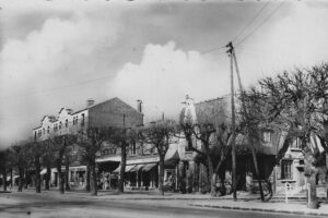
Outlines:
[[[244,76],[247,84],[255,83],[254,78],[327,61],[328,8],[294,2],[288,9],[288,14],[279,16],[281,11],[278,11],[271,17],[276,21],[269,20],[236,48],[242,73],[253,75]]]

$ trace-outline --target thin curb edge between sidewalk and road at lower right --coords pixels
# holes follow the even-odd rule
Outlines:
[[[328,213],[321,211],[300,211],[300,210],[284,210],[284,209],[262,209],[255,207],[241,207],[241,206],[225,206],[225,205],[202,205],[202,204],[187,204],[194,207],[209,207],[220,209],[238,209],[238,210],[250,210],[250,211],[267,211],[267,213],[279,213],[279,214],[294,214],[294,215],[312,215],[312,216],[328,216]]]

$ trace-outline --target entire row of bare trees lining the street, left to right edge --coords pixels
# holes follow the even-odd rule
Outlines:
[[[256,86],[248,90],[242,90],[238,95],[239,106],[237,113],[237,134],[245,136],[249,144],[249,153],[254,161],[254,174],[258,178],[261,199],[265,194],[261,189],[261,172],[258,168],[257,150],[254,145],[261,141],[261,130],[270,126],[288,134],[289,138],[298,137],[305,156],[305,175],[311,184],[309,207],[316,207],[315,177],[318,166],[325,166],[327,157],[312,143],[312,136],[320,138],[321,145],[328,154],[327,135],[327,89],[328,64],[321,64],[309,70],[295,70],[292,73],[284,72],[274,77],[260,80]],[[89,128],[75,135],[62,135],[44,142],[28,142],[11,147],[11,168],[15,168],[20,174],[20,187],[22,190],[23,175],[28,166],[36,170],[36,191],[40,192],[39,170],[44,165],[47,168],[46,189],[49,189],[50,168],[57,166],[60,178],[60,192],[69,189],[68,167],[79,157],[80,161],[87,164],[86,190],[92,190],[96,195],[96,165],[95,158],[102,149],[104,142],[109,142],[121,148],[121,168],[119,190],[124,191],[124,174],[127,159],[127,150],[131,143],[141,142],[152,144],[159,150],[160,156],[160,193],[164,193],[164,158],[172,143],[178,137],[187,141],[188,148],[198,154],[198,159],[208,169],[211,194],[218,192],[225,194],[224,177],[227,161],[231,160],[232,126],[231,114],[226,112],[229,106],[222,105],[213,111],[198,111],[197,120],[183,118],[176,124],[172,120],[163,120],[151,123],[147,128]],[[215,118],[215,119],[213,119]],[[181,134],[183,133],[183,134]],[[195,141],[195,138],[197,141]],[[200,142],[201,145],[195,143]],[[323,155],[324,154],[324,155]],[[1,158],[4,161],[4,158]],[[278,161],[278,159],[277,159]],[[61,172],[61,166],[66,166],[66,172]],[[231,168],[230,168],[231,170]],[[5,169],[2,170],[5,172]],[[90,180],[92,178],[92,180]],[[216,180],[221,180],[221,190],[216,187]],[[66,181],[66,182],[65,182]],[[91,182],[90,182],[91,181]],[[25,182],[26,183],[26,182]],[[91,185],[90,185],[91,183]]]

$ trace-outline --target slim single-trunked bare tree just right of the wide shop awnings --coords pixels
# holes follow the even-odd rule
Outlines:
[[[153,122],[140,132],[143,142],[153,145],[160,156],[159,193],[164,195],[164,159],[171,144],[175,143],[176,124],[172,120]]]

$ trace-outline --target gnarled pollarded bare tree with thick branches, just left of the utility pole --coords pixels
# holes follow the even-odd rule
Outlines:
[[[199,111],[197,121],[187,116],[180,120],[179,124],[179,129],[187,141],[188,149],[204,159],[209,170],[208,179],[212,196],[218,195],[216,180],[219,175],[221,175],[220,193],[223,195],[226,193],[224,173],[220,172],[225,171],[223,164],[231,152],[231,128],[226,124],[226,108],[224,105],[221,106],[214,111]],[[201,145],[194,143],[194,136]]]

